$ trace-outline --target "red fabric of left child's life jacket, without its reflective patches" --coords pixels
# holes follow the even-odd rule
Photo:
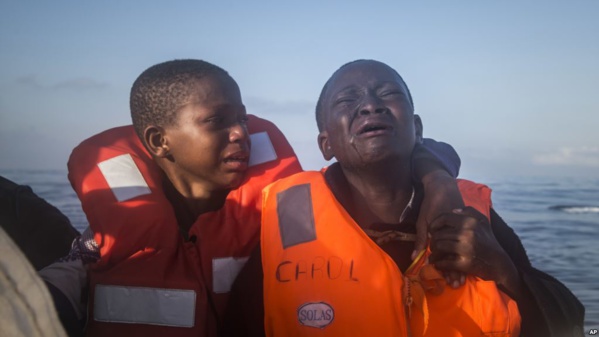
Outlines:
[[[224,313],[228,293],[212,291],[213,259],[249,256],[258,243],[263,187],[301,171],[293,149],[274,124],[250,115],[248,131],[266,131],[277,159],[250,167],[244,183],[229,193],[223,208],[196,220],[188,233],[197,238],[195,243],[183,240],[172,206],[162,191],[161,171],[132,126],[100,133],[73,150],[68,164],[69,180],[81,200],[101,254],[90,270],[89,335],[216,335],[217,316]],[[151,193],[118,202],[98,163],[125,153],[133,158]],[[194,290],[195,326],[96,322],[96,284]]]

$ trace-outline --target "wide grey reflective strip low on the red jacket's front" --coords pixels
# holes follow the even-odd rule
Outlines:
[[[195,324],[195,304],[193,290],[99,284],[95,291],[94,319],[190,328]]]

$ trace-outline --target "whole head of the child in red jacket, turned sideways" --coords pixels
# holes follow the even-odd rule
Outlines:
[[[137,135],[182,194],[238,187],[250,139],[239,87],[222,68],[174,60],[145,70],[131,88]]]

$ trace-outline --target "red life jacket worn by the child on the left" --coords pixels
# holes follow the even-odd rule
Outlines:
[[[132,126],[73,150],[69,180],[101,256],[89,273],[88,335],[217,335],[230,287],[258,244],[262,189],[301,171],[274,124],[249,115],[248,131],[243,184],[221,209],[196,220],[189,240],[163,192],[162,172]]]

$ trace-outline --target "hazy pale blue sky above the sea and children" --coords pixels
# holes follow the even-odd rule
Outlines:
[[[176,58],[229,71],[318,169],[318,94],[372,58],[402,74],[462,176],[599,177],[599,1],[348,3],[0,0],[0,169],[64,169],[130,123],[144,69]]]

